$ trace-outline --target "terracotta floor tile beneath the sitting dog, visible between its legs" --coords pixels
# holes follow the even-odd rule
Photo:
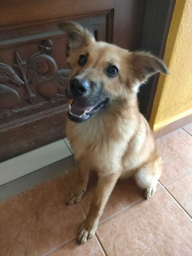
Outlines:
[[[68,172],[67,175],[72,186],[74,187],[77,182],[77,170],[72,170]],[[98,178],[96,173],[91,173],[87,190],[81,200],[82,207],[86,214],[88,214],[97,181]],[[157,188],[160,188],[160,184],[158,184]],[[112,194],[110,195],[108,203],[106,204],[104,213],[100,218],[100,222],[116,214],[117,212],[122,211],[124,208],[127,208],[143,197],[143,191],[138,188],[133,178],[127,180],[118,180]]]

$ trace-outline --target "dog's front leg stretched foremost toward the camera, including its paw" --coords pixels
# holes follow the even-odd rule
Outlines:
[[[108,198],[118,180],[120,173],[99,177],[96,192],[90,205],[86,220],[78,232],[78,244],[84,244],[94,236],[99,218],[103,213]]]

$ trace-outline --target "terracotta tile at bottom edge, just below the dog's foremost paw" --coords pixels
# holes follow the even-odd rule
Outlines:
[[[78,246],[76,241],[72,241],[50,256],[104,256],[104,253],[94,236],[88,243]]]

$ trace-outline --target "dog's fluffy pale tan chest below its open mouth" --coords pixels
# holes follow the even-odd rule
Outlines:
[[[82,124],[70,123],[68,138],[76,160],[83,159],[90,168],[118,170],[120,159],[126,150],[128,133],[122,128],[105,125],[100,119]]]

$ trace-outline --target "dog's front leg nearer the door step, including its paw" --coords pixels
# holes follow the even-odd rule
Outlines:
[[[79,203],[84,195],[89,179],[89,168],[84,165],[84,161],[78,161],[78,182],[75,188],[72,190],[66,205],[72,205]]]

